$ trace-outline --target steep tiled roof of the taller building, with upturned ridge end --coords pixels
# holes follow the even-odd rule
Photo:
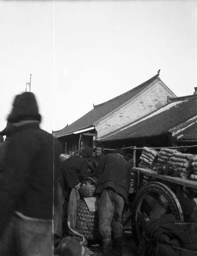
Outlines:
[[[159,79],[158,76],[159,74],[156,74],[156,76],[153,76],[146,82],[138,85],[137,87],[129,90],[128,92],[125,92],[102,104],[95,105],[91,111],[89,111],[87,114],[79,118],[77,121],[73,122],[69,126],[66,126],[65,128],[59,131],[54,131],[53,132],[54,136],[55,137],[65,136],[77,130],[81,130],[81,129],[89,128],[93,126],[93,124],[96,124],[100,120],[100,118],[103,118],[104,116],[106,116],[107,114],[109,114],[110,112],[120,107],[122,104],[124,104],[134,96],[136,96],[142,90],[146,89],[146,87],[148,87],[154,81]]]

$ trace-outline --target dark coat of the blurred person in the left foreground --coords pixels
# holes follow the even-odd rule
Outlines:
[[[7,152],[0,177],[0,234],[14,211],[52,219],[53,191],[61,175],[60,146],[38,122],[18,126],[9,137]]]

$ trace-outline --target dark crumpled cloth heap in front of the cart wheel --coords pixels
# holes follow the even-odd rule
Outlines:
[[[139,218],[146,238],[152,242],[148,255],[197,255],[197,223],[181,222],[172,214],[164,214],[159,219],[147,222],[142,216]]]

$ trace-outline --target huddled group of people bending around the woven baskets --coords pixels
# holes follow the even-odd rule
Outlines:
[[[61,183],[64,198],[63,204],[68,205],[69,195],[73,188],[79,190],[81,182],[86,177],[96,181],[96,194],[99,195],[99,233],[102,238],[102,254],[104,256],[122,255],[122,213],[125,203],[128,203],[128,192],[131,180],[131,158],[125,160],[124,151],[114,150],[104,155],[102,144],[92,148],[81,149],[79,156],[71,156],[62,161]],[[61,207],[64,208],[63,206]],[[66,211],[61,214],[65,220]],[[61,227],[61,225],[59,225]],[[66,224],[63,225],[66,235]],[[61,231],[58,232],[61,234]]]

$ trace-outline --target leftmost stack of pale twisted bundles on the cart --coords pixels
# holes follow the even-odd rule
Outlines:
[[[158,152],[152,148],[144,147],[140,156],[140,164],[138,167],[152,170],[154,164],[157,162]]]

